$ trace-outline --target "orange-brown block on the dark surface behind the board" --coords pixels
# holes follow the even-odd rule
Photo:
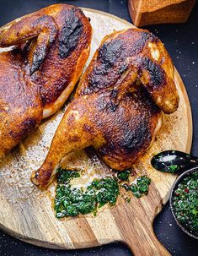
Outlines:
[[[133,24],[184,23],[190,15],[195,0],[128,0]]]

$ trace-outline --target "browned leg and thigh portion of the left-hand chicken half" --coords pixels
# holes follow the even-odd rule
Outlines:
[[[17,52],[0,54],[0,158],[42,119],[39,90],[24,72]]]

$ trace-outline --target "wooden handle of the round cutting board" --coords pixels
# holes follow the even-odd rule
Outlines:
[[[152,197],[153,205],[148,208],[148,197],[136,200],[135,204],[120,204],[119,210],[114,209],[121,241],[126,243],[135,256],[170,256],[153,231],[153,220],[159,210],[156,205],[160,205],[160,201],[157,196]]]

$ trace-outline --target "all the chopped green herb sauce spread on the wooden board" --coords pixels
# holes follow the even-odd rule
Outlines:
[[[130,170],[118,172],[117,177],[95,178],[86,189],[72,188],[71,181],[80,177],[78,171],[59,169],[57,171],[57,186],[54,209],[56,218],[60,219],[79,214],[94,213],[104,204],[114,205],[120,194],[120,187],[123,182],[129,182]],[[148,185],[151,180],[146,177],[138,177],[136,184],[129,184],[128,187],[136,197],[147,194]],[[127,202],[131,199],[127,198]]]

